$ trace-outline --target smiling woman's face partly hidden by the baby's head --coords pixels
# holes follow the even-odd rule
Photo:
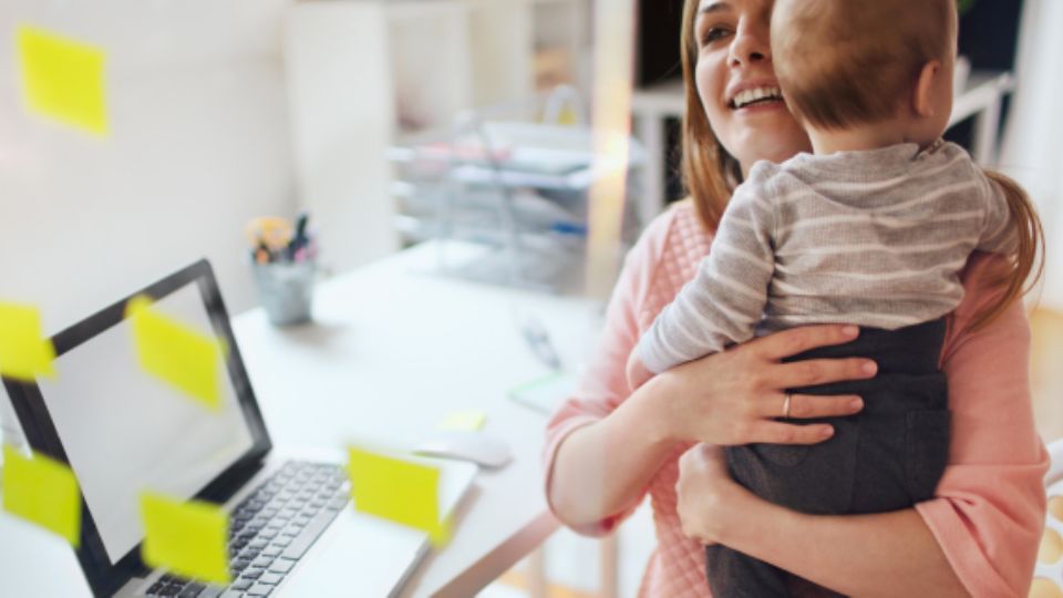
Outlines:
[[[694,79],[709,124],[747,173],[811,151],[775,79],[768,28],[774,0],[701,0]]]

